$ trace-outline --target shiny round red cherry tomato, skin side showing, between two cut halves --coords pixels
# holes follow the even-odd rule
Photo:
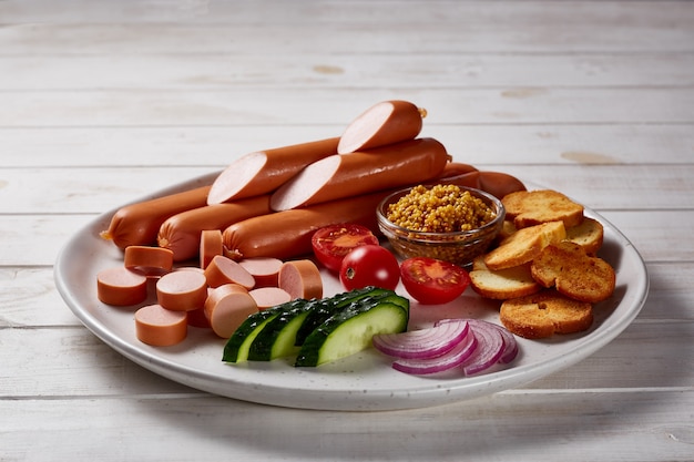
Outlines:
[[[395,290],[400,281],[398,260],[379,245],[359,246],[343,259],[339,280],[347,290],[376,286]]]

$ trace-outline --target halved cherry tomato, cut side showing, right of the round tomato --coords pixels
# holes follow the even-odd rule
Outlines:
[[[470,284],[468,271],[449,261],[408,258],[400,265],[402,285],[422,305],[441,305],[460,297]]]

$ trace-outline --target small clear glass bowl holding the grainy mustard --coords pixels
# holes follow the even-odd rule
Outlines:
[[[490,247],[503,226],[506,209],[501,201],[481,189],[460,186],[461,191],[470,192],[473,197],[479,197],[487,204],[494,213],[494,218],[479,228],[452,233],[430,233],[400,227],[387,218],[388,207],[407,195],[411,187],[408,187],[390,194],[376,209],[380,232],[396,254],[402,258],[431,257],[466,267]]]

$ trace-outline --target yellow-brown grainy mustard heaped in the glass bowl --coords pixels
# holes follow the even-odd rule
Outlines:
[[[394,224],[422,233],[471,230],[494,217],[479,197],[457,185],[415,186],[387,211]]]

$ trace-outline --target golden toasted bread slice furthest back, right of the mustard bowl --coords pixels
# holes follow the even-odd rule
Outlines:
[[[559,220],[570,228],[583,220],[583,206],[552,189],[518,191],[507,194],[501,203],[507,219],[512,219],[517,228]]]

